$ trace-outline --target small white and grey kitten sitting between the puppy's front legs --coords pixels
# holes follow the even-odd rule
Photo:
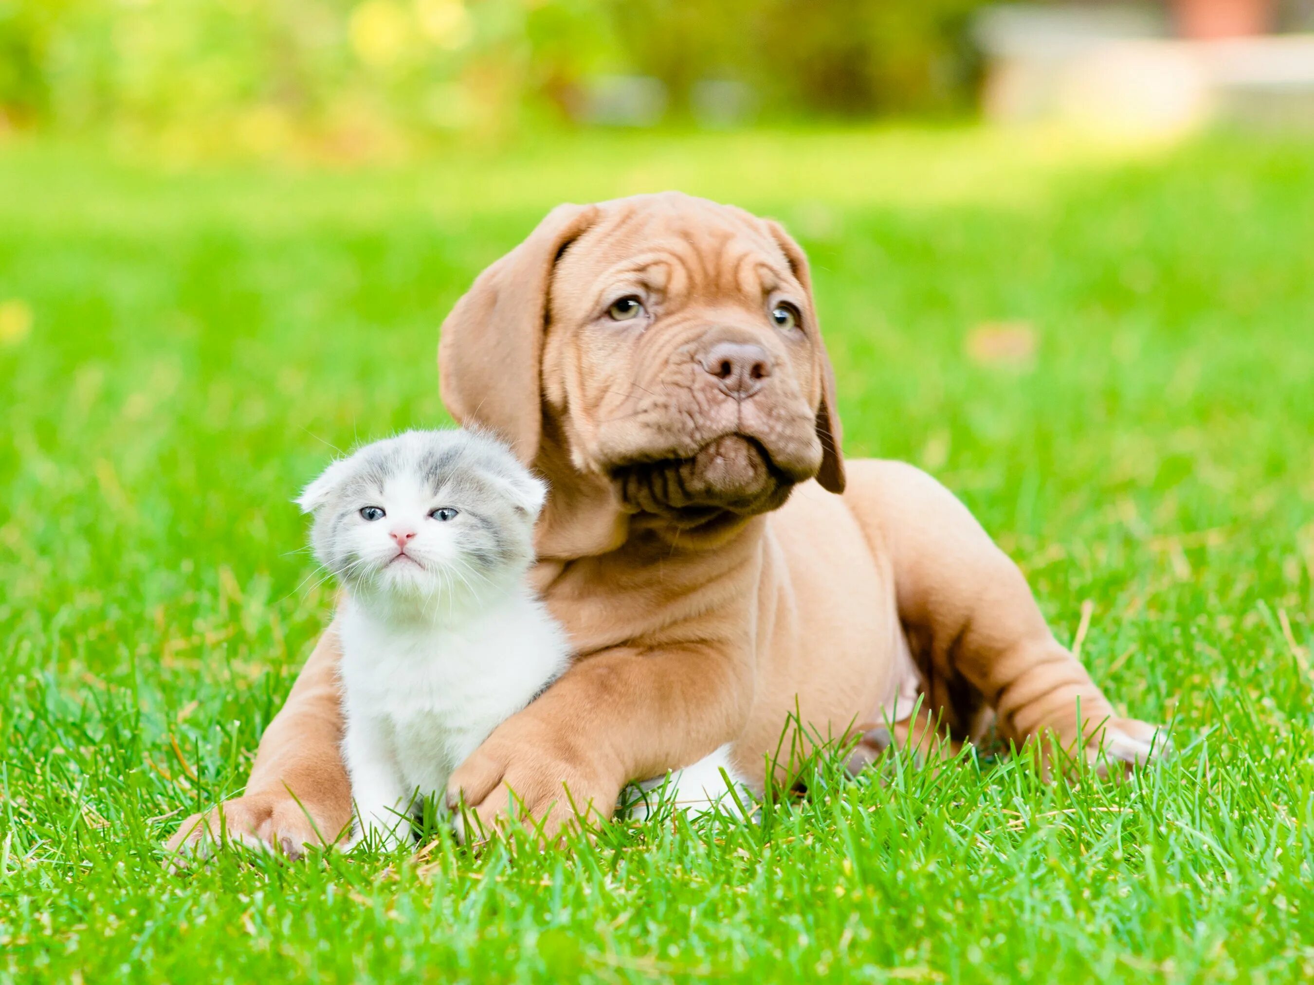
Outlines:
[[[423,797],[565,670],[565,633],[526,582],[545,494],[491,437],[409,431],[334,462],[297,500],[343,587],[352,843],[409,838]],[[682,806],[724,793],[721,767],[725,749],[678,774]]]

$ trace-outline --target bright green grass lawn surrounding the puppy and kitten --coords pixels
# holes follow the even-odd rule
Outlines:
[[[808,248],[850,456],[942,478],[1177,756],[899,759],[757,825],[422,862],[223,856],[331,605],[288,502],[443,420],[438,324],[561,200],[681,186]],[[1314,144],[581,138],[426,167],[0,147],[0,974],[24,981],[1314,976]],[[29,324],[30,315],[30,324]],[[1021,365],[974,328],[1034,332]]]

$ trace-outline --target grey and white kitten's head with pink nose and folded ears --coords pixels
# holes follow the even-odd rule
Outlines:
[[[424,599],[520,578],[545,495],[493,437],[407,431],[335,461],[297,503],[314,514],[315,557],[344,586]]]

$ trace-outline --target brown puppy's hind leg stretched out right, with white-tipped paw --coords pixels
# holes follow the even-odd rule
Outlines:
[[[1126,766],[1167,749],[1152,725],[1118,716],[1054,638],[1021,570],[953,494],[909,465],[851,465],[845,499],[874,553],[890,558],[899,619],[955,733],[970,730],[980,703],[1000,738],[1038,742],[1046,762],[1055,746]]]

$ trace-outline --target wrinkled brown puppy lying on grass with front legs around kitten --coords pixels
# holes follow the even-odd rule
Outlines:
[[[561,206],[476,280],[439,360],[452,415],[552,483],[536,579],[578,651],[452,777],[484,820],[510,791],[549,827],[608,816],[627,780],[727,742],[762,784],[795,711],[803,747],[882,721],[951,743],[993,721],[1018,743],[1150,755],[1155,729],[1117,717],[953,495],[907,465],[845,465],[807,260],[777,223],[675,193]],[[330,628],[246,796],[173,847],[222,823],[297,854],[346,827],[336,662]]]

